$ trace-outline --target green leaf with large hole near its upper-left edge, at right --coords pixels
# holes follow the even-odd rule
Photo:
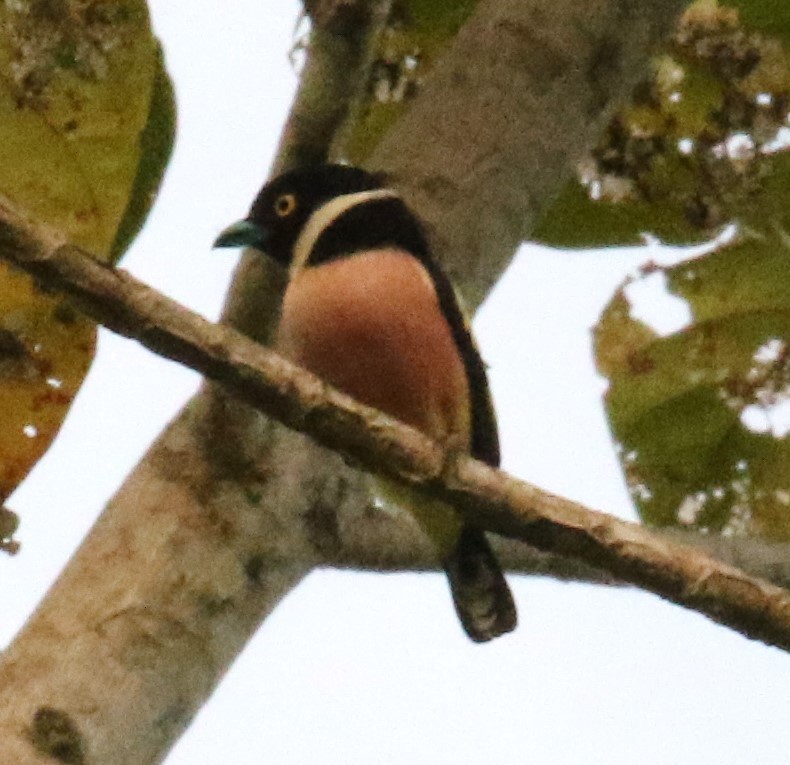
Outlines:
[[[639,513],[790,539],[790,250],[780,236],[747,239],[664,272],[690,326],[657,335],[621,289],[596,328]]]

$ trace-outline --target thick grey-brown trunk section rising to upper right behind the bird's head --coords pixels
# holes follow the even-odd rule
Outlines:
[[[683,7],[480,3],[371,158],[428,222],[470,305],[499,279]]]

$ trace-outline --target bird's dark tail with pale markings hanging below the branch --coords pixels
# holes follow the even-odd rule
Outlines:
[[[455,610],[476,643],[516,626],[516,606],[494,552],[477,528],[464,526],[445,563]]]

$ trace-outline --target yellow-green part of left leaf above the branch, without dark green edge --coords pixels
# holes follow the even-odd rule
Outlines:
[[[5,3],[0,29],[0,190],[108,257],[158,65],[145,5]]]

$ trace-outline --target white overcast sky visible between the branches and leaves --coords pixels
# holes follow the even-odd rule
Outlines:
[[[216,317],[235,256],[211,242],[269,166],[296,77],[295,0],[151,0],[180,128],[124,266]],[[632,517],[589,327],[641,254],[531,248],[476,322],[505,467]],[[572,312],[568,307],[573,306]],[[0,645],[18,630],[196,376],[103,333],[47,458],[9,502]],[[266,621],[168,765],[786,765],[790,657],[631,591],[511,577],[520,627],[461,633],[443,577],[322,572]],[[343,616],[338,616],[338,604]]]

